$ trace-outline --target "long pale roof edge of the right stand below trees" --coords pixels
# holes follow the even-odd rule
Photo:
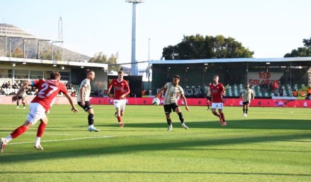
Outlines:
[[[190,59],[190,60],[151,60],[149,64],[204,64],[204,63],[277,63],[277,62],[311,62],[311,57],[289,58],[225,58],[225,59]]]

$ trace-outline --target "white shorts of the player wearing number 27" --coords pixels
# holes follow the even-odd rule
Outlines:
[[[31,124],[35,124],[39,119],[45,116],[45,109],[39,103],[32,102],[29,104],[29,113],[27,116],[27,121],[31,122]]]

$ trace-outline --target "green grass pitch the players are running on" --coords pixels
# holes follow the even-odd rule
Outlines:
[[[0,136],[23,124],[27,109],[0,105]],[[225,107],[227,126],[206,107],[181,107],[189,130],[172,113],[167,132],[163,106],[126,106],[124,128],[112,105],[87,114],[54,105],[33,148],[38,123],[0,154],[0,181],[311,181],[311,110]]]

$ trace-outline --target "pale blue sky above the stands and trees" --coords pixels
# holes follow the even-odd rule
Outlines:
[[[57,34],[88,56],[119,52],[131,62],[132,4],[124,0],[1,0],[0,23]],[[311,0],[145,0],[137,5],[136,59],[159,60],[183,35],[231,36],[255,58],[283,57],[311,37]],[[127,65],[129,66],[129,65]],[[145,68],[147,64],[139,64]]]

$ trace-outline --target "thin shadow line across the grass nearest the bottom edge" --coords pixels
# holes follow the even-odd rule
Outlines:
[[[311,174],[291,174],[291,173],[259,173],[259,172],[205,172],[205,171],[0,171],[0,174],[83,174],[83,173],[128,173],[128,174],[221,174],[221,175],[263,175],[263,176],[300,176],[307,177]]]

